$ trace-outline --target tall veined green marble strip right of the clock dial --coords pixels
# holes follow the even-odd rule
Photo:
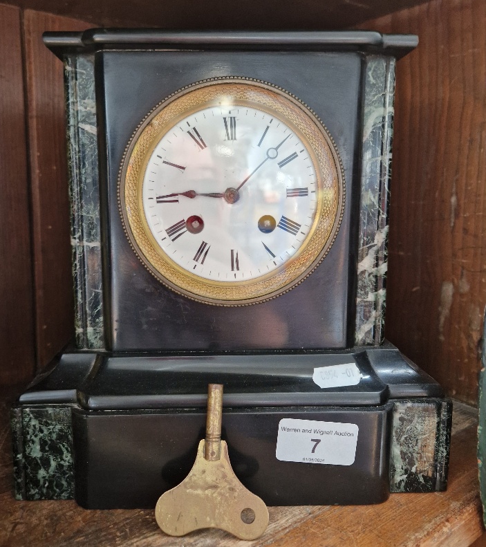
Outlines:
[[[395,59],[366,58],[355,344],[384,340]]]

